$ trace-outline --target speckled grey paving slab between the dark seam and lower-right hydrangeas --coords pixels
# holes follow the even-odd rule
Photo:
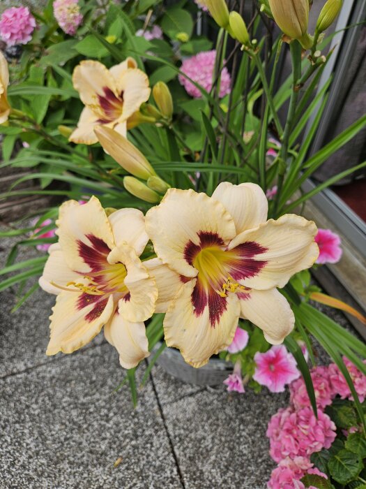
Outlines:
[[[186,386],[160,367],[153,378],[185,489],[266,488],[275,467],[266,429],[287,394],[230,395],[222,386],[182,397]]]

